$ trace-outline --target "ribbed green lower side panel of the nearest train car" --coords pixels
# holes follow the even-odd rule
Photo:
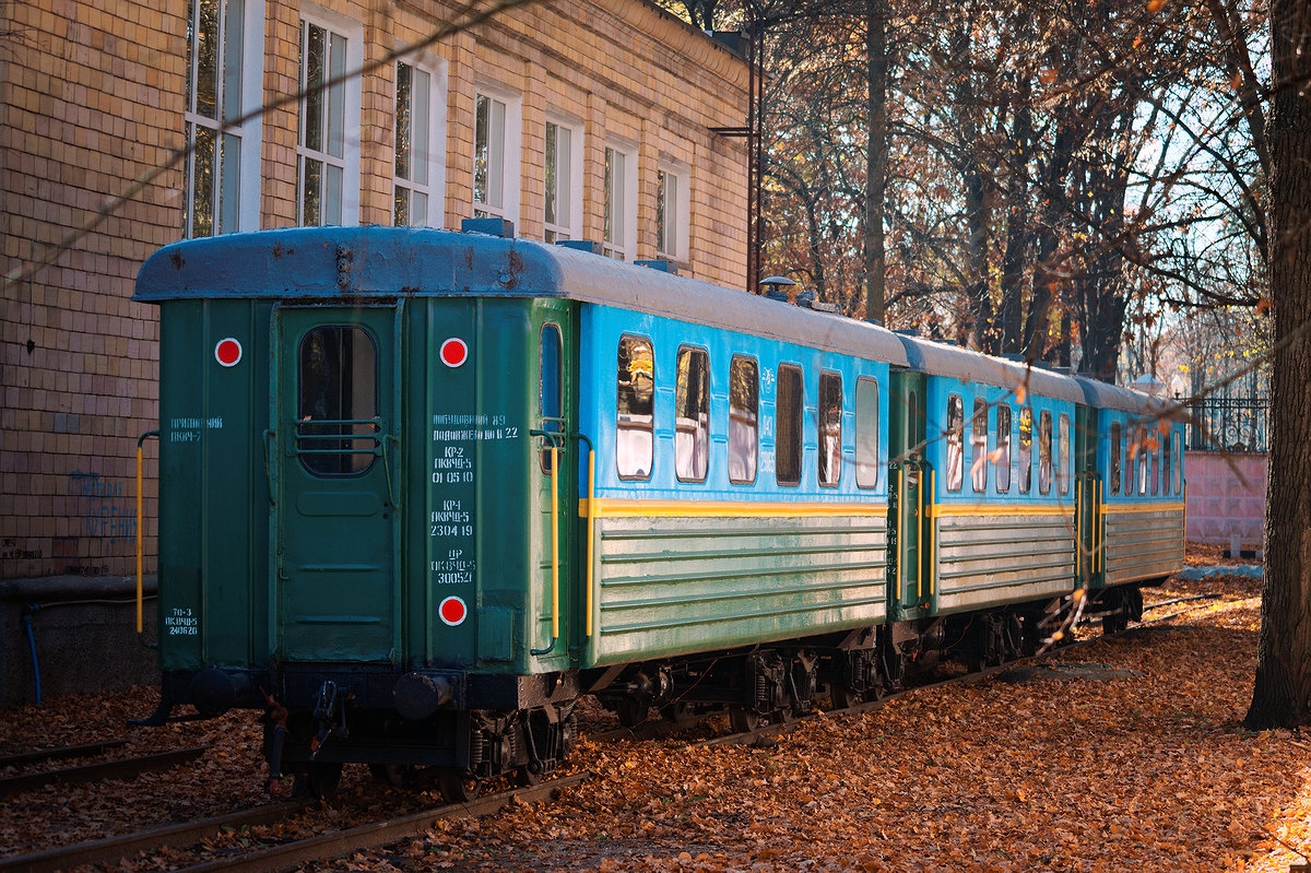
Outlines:
[[[593,663],[878,624],[885,519],[598,519]]]

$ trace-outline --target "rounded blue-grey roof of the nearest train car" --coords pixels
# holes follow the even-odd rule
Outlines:
[[[560,296],[906,366],[881,326],[565,246],[431,228],[286,228],[187,240],[142,266],[132,299]]]

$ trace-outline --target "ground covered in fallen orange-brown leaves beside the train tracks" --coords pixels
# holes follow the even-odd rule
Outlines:
[[[1311,734],[1240,726],[1256,581],[1175,579],[1146,600],[1201,592],[1222,596],[1158,610],[1180,615],[1040,670],[810,718],[766,747],[585,737],[573,763],[595,776],[555,802],[444,822],[321,869],[1285,873],[1311,853]],[[7,712],[0,754],[123,735],[125,709],[149,703],[101,695]],[[197,738],[214,748],[136,783],[0,801],[0,845],[17,847],[0,855],[267,802],[249,713],[128,735],[143,750]],[[433,801],[397,800],[350,769],[343,792],[312,827],[349,823],[342,805],[361,797],[376,810],[368,792]]]

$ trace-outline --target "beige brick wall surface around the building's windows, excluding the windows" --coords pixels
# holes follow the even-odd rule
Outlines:
[[[435,0],[323,0],[359,22],[359,222],[389,224],[395,64],[448,26]],[[182,228],[186,3],[5,3],[0,47],[0,578],[127,575],[135,566],[135,454],[157,413],[157,321],[131,301],[146,257]],[[300,3],[266,0],[260,224],[296,215]],[[21,37],[13,37],[21,34]],[[637,257],[656,257],[661,160],[691,168],[684,274],[745,282],[747,71],[704,34],[640,0],[528,4],[426,50],[446,66],[444,225],[472,215],[479,84],[522,98],[518,232],[543,236],[548,113],[583,125],[583,228],[600,239],[607,136],[637,146]],[[161,169],[163,168],[163,169]],[[118,202],[115,198],[123,198]],[[104,215],[101,212],[104,211]],[[153,443],[146,444],[153,570]]]

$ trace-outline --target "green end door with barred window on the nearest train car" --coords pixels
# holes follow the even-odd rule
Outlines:
[[[273,311],[277,657],[400,658],[395,307]]]

